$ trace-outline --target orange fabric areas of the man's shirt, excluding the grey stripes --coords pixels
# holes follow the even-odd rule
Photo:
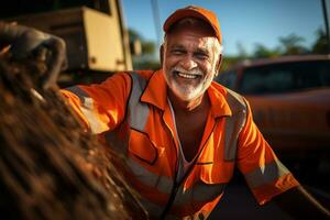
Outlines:
[[[139,72],[139,74],[147,80],[147,86],[140,101],[148,103],[150,112],[143,132],[118,129],[119,131],[128,132],[122,134],[123,136],[131,136],[127,156],[143,167],[145,173],[174,179],[179,140],[175,135],[175,125],[167,103],[167,86],[163,72],[158,70],[154,74],[152,72]],[[100,114],[97,119],[102,120],[102,123],[107,124],[109,131],[117,127],[124,127],[122,122],[124,122],[127,116],[127,102],[131,91],[131,78],[128,74],[116,74],[101,85],[79,86],[79,88],[94,100],[94,111]],[[239,136],[237,161],[224,161],[224,121],[226,117],[232,114],[232,111],[226,100],[227,90],[222,86],[212,82],[207,94],[211,103],[211,111],[209,112],[199,146],[197,164],[185,183],[183,183],[184,189],[191,189],[198,182],[204,184],[227,184],[232,177],[235,163],[244,174],[263,167],[265,163],[276,158],[253,123],[249,109],[246,124]],[[79,105],[81,105],[79,98],[68,91],[64,91],[64,95],[87,123],[88,120],[79,108]],[[160,205],[162,202],[165,206],[166,202],[164,200],[166,200],[167,196],[158,194],[157,190],[157,187],[162,184],[155,182],[154,187],[146,186],[139,180],[139,178],[145,178],[143,176],[145,175],[144,173],[139,174],[140,176],[132,176],[134,175],[132,173],[130,177],[128,172],[125,170],[129,182],[132,183],[132,186],[138,189],[142,197],[154,204]],[[263,194],[262,188],[255,189],[255,196],[258,201],[263,202],[293,186],[296,186],[295,180],[278,179],[270,183]],[[187,205],[187,207],[180,207],[179,209],[185,210],[185,212],[187,210],[209,212],[213,209],[219,198],[220,195],[213,200],[207,200],[204,204],[197,202],[195,204],[196,206]],[[191,209],[191,207],[194,208]]]

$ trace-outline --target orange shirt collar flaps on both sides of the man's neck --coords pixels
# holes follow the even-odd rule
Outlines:
[[[224,87],[212,81],[207,94],[211,102],[211,112],[215,118],[231,116],[231,110],[226,100],[227,91]],[[151,76],[147,86],[142,94],[141,101],[151,103],[163,111],[165,110],[165,107],[167,106],[167,85],[162,69],[155,72]]]

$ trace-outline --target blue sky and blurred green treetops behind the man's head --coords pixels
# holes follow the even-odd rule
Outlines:
[[[144,56],[134,66],[150,68],[152,56],[158,61],[163,40],[162,24],[178,8],[205,7],[217,13],[223,35],[226,70],[243,58],[275,57],[288,54],[328,53],[321,0],[123,0],[124,16],[131,40],[142,41]],[[329,10],[329,3],[326,6]],[[144,64],[145,63],[145,64]]]

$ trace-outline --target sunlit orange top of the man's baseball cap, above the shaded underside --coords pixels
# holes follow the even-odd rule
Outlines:
[[[196,6],[188,6],[186,8],[178,9],[173,14],[170,14],[163,25],[164,32],[167,33],[175,22],[187,16],[193,16],[206,21],[213,29],[220,44],[222,43],[220,24],[217,15],[212,11]]]

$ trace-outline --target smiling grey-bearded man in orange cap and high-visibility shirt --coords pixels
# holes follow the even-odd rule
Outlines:
[[[179,9],[164,31],[162,69],[63,90],[86,128],[124,155],[119,168],[151,218],[206,219],[235,166],[258,204],[274,199],[295,217],[329,218],[278,161],[246,100],[212,81],[222,61],[216,14]]]

